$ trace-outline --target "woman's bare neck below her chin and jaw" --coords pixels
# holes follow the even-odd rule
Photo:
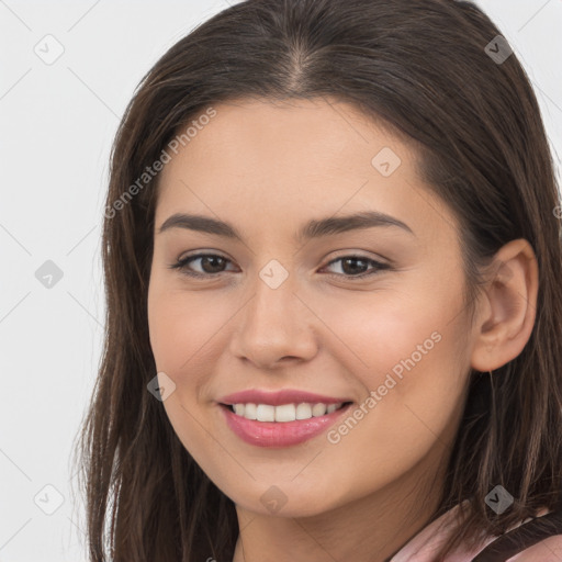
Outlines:
[[[314,516],[272,517],[236,505],[233,562],[390,561],[437,510],[446,467],[436,473],[435,465],[442,454],[436,449],[383,488]]]

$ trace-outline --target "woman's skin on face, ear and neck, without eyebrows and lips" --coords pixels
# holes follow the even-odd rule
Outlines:
[[[470,368],[497,369],[528,341],[535,255],[522,239],[497,252],[497,274],[469,325],[458,224],[419,179],[414,147],[336,100],[238,100],[215,110],[160,178],[148,322],[157,369],[176,384],[164,407],[186,449],[235,503],[234,562],[382,562],[438,505]],[[383,147],[402,160],[387,177],[371,164]],[[390,214],[414,234],[371,227],[293,239],[312,218],[359,211]],[[175,213],[227,221],[244,240],[160,233]],[[226,261],[186,266],[204,279],[170,269],[196,250]],[[353,254],[392,268],[330,265]],[[259,277],[272,259],[289,273],[274,290]],[[337,443],[322,434],[293,447],[251,446],[217,405],[251,387],[360,405],[432,333],[439,342],[394,376]],[[261,498],[276,493],[285,503],[273,513]]]

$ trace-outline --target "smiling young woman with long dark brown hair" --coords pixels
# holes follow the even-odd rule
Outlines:
[[[91,560],[110,503],[114,561],[561,560],[559,205],[471,2],[192,31],[112,154]]]

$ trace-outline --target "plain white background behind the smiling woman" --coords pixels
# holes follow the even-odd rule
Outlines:
[[[479,4],[529,72],[560,167],[562,2]],[[86,560],[70,454],[101,352],[111,143],[145,72],[226,7],[0,0],[0,562]],[[47,34],[65,49],[52,65],[34,53]],[[35,278],[46,260],[64,273],[52,289]],[[52,515],[46,485],[64,498]]]

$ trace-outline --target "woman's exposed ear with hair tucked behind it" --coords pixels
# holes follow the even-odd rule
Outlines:
[[[471,367],[493,371],[515,359],[535,325],[539,268],[531,245],[512,240],[494,256],[473,326]]]

